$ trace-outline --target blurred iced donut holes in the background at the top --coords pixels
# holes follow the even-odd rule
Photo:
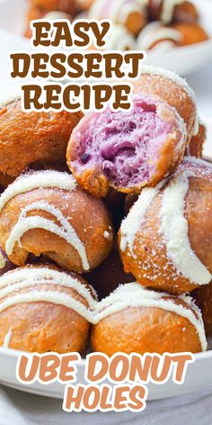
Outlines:
[[[26,36],[33,19],[110,19],[108,50],[166,52],[208,40],[199,11],[187,0],[29,0]]]

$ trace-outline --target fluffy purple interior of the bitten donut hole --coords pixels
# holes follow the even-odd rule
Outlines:
[[[119,187],[133,187],[151,180],[157,170],[163,143],[178,130],[179,115],[158,96],[137,95],[128,112],[102,113],[84,117],[74,131],[77,174],[97,167]],[[160,112],[159,112],[160,111]],[[162,111],[171,121],[162,118]]]

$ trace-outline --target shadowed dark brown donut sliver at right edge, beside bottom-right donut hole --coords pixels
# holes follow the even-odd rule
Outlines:
[[[202,312],[203,321],[208,337],[212,335],[212,282],[209,285],[199,286],[192,293],[199,309]]]

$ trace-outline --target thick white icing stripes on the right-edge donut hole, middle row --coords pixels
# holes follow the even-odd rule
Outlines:
[[[185,158],[184,163],[177,170],[175,176],[167,184],[164,180],[154,188],[145,188],[139,195],[138,200],[132,206],[127,218],[120,226],[120,249],[129,251],[129,256],[137,259],[134,252],[137,232],[145,221],[146,212],[155,199],[161,193],[162,202],[158,217],[160,218],[160,229],[157,237],[166,249],[166,263],[169,261],[173,267],[172,280],[183,276],[195,285],[208,285],[212,279],[208,268],[199,260],[190,246],[189,225],[184,216],[185,198],[189,191],[189,179],[195,177],[195,168],[200,169],[200,176],[212,176],[212,165],[208,162]],[[145,268],[142,263],[141,267]],[[157,271],[159,273],[159,271]]]

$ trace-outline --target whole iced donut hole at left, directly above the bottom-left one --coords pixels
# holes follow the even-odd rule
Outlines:
[[[29,254],[45,255],[83,273],[112,248],[104,203],[84,193],[67,173],[46,170],[18,177],[1,195],[0,210],[0,243],[16,266],[24,266]]]

